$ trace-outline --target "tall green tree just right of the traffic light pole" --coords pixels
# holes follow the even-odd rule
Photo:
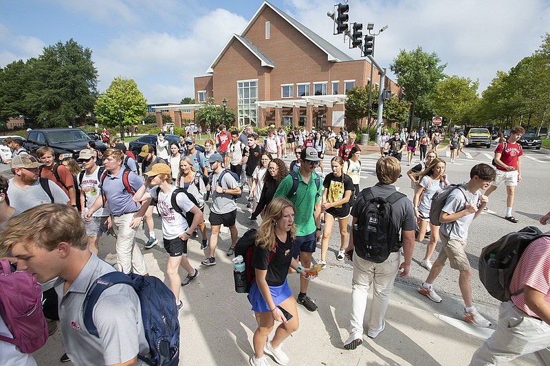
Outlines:
[[[439,65],[439,56],[435,52],[428,54],[422,47],[407,52],[401,49],[390,65],[397,76],[397,84],[404,89],[404,99],[410,102],[409,127],[415,116],[415,108],[422,97],[429,95],[445,74],[447,64]]]

